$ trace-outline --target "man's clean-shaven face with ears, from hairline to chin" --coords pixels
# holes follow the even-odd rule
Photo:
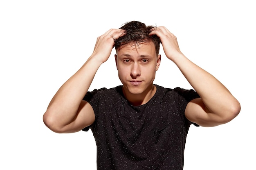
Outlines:
[[[147,94],[152,90],[155,72],[161,61],[153,42],[127,44],[117,50],[115,59],[118,76],[126,94]]]

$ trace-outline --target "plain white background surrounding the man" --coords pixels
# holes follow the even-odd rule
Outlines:
[[[58,88],[90,56],[96,38],[132,20],[166,26],[186,57],[218,78],[242,106],[227,124],[191,126],[184,170],[256,169],[255,7],[253,0],[1,0],[0,169],[96,169],[91,131],[57,134],[42,117]],[[90,90],[121,84],[114,54]],[[154,83],[190,89],[162,49],[160,54]]]

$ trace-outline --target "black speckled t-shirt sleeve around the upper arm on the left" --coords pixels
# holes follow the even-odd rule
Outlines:
[[[87,92],[83,98],[83,100],[87,101],[91,106],[95,114],[95,120],[97,120],[98,111],[99,111],[99,100],[100,100],[100,93],[103,89],[94,89],[92,92]],[[90,126],[85,127],[82,131],[89,131],[89,129],[94,125],[94,123]]]

